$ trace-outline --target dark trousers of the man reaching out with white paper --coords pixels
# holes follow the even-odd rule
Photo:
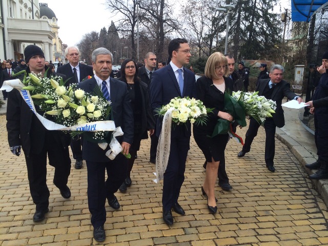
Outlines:
[[[260,125],[258,122],[251,118],[250,127],[246,132],[245,143],[242,147],[242,151],[250,152],[251,145],[254,138],[257,135],[257,131]],[[266,118],[264,121],[265,129],[265,163],[267,166],[272,166],[274,164],[273,159],[275,157],[275,133],[276,133],[276,124],[273,121],[273,118]]]

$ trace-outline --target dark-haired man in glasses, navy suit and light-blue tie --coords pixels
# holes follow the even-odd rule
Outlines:
[[[169,64],[153,73],[150,84],[151,105],[154,110],[167,105],[174,97],[196,98],[195,75],[183,67],[183,65],[189,64],[191,56],[188,41],[184,38],[175,38],[171,40],[168,50]],[[161,126],[162,118],[156,116],[156,134],[158,137]],[[185,215],[185,211],[178,203],[178,198],[183,180],[185,180],[190,136],[191,124],[187,127],[180,125],[172,128],[170,155],[164,173],[162,193],[162,216],[168,225],[173,224],[172,209],[180,215]]]

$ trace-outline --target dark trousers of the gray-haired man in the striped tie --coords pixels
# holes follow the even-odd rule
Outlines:
[[[106,222],[106,198],[112,199],[114,193],[127,176],[128,159],[118,154],[114,160],[97,162],[87,160],[88,170],[88,206],[91,223],[94,228],[104,226]],[[105,170],[107,179],[105,181]]]

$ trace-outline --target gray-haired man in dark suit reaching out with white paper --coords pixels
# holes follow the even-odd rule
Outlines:
[[[255,89],[258,91],[259,96],[264,96],[267,99],[276,101],[277,109],[276,113],[273,114],[272,118],[266,118],[264,121],[265,129],[265,164],[270,172],[275,171],[274,167],[274,156],[275,156],[275,133],[276,127],[283,127],[285,125],[285,120],[283,116],[283,110],[281,107],[281,101],[283,97],[288,99],[297,100],[301,103],[302,98],[297,96],[290,89],[290,84],[283,80],[284,68],[281,65],[274,65],[271,67],[269,79],[261,79]],[[245,144],[242,150],[238,153],[238,157],[243,157],[246,153],[250,152],[251,145],[254,137],[257,135],[257,131],[260,125],[258,122],[251,118],[250,126],[246,133]]]

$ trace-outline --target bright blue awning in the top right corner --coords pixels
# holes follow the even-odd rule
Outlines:
[[[325,0],[291,0],[292,21],[310,22],[312,14],[322,5],[328,3]]]

